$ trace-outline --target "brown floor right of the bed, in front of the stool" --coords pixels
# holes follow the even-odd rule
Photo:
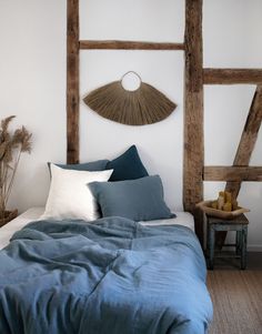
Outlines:
[[[249,254],[245,271],[239,270],[239,263],[232,263],[232,260],[218,261],[214,270],[208,273],[208,287],[214,307],[209,333],[261,334],[262,253]]]

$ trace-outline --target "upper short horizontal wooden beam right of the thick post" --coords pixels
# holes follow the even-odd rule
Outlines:
[[[261,69],[204,69],[204,84],[260,84]]]

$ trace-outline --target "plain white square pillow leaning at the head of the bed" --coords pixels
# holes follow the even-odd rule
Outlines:
[[[97,220],[100,216],[98,203],[87,184],[93,181],[108,181],[113,170],[75,171],[66,170],[56,164],[51,164],[50,169],[51,185],[41,219]]]

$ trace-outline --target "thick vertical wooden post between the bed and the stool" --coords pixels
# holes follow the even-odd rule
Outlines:
[[[202,0],[185,1],[185,101],[183,204],[194,214],[195,232],[203,244],[203,215],[195,203],[203,199],[203,45]]]

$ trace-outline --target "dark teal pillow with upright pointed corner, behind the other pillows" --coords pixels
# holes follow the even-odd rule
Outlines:
[[[135,180],[149,175],[140,160],[135,145],[132,145],[122,155],[108,162],[107,169],[113,170],[109,181]]]

